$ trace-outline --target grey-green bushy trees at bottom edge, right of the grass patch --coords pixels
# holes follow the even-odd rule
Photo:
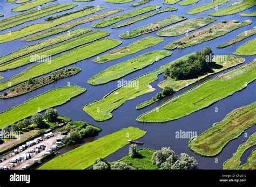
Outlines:
[[[197,167],[197,161],[194,157],[181,153],[176,155],[170,147],[162,147],[152,155],[152,163],[157,167],[165,170],[169,169],[183,169],[191,170]]]

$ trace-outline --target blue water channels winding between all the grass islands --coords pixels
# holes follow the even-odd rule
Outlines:
[[[233,0],[234,1],[234,0]],[[232,3],[233,1],[231,1],[230,3]],[[70,3],[71,1],[68,0],[59,0],[57,3]],[[173,11],[173,12],[165,12],[165,13],[161,13],[159,15],[147,18],[146,20],[143,21],[139,21],[138,23],[129,25],[129,26],[125,26],[125,27],[121,27],[121,28],[116,28],[116,29],[112,29],[111,26],[109,27],[105,27],[105,28],[100,28],[99,30],[104,30],[104,31],[109,31],[111,32],[111,35],[109,38],[114,38],[114,39],[119,39],[118,35],[121,33],[124,33],[126,31],[132,30],[133,28],[136,28],[138,26],[142,26],[142,25],[146,25],[149,23],[153,23],[155,21],[164,19],[166,17],[169,17],[171,15],[178,15],[178,16],[186,16],[187,19],[190,18],[197,18],[197,17],[209,17],[207,15],[207,13],[214,11],[212,10],[208,10],[205,12],[201,12],[198,13],[196,15],[185,15],[186,12],[188,12],[191,8],[193,8],[196,5],[200,5],[200,4],[205,4],[211,2],[211,0],[207,0],[207,1],[200,1],[197,4],[192,4],[192,5],[188,5],[188,6],[180,6],[177,4],[174,5],[170,5],[173,7],[178,8],[178,11]],[[56,2],[52,2],[52,3],[48,3],[46,5],[50,5],[50,4],[54,4]],[[98,13],[102,13],[105,11],[109,11],[112,9],[117,9],[117,8],[123,8],[124,11],[123,12],[119,12],[118,14],[123,14],[124,12],[129,12],[131,10],[134,10],[134,8],[131,8],[129,5],[132,3],[126,3],[126,4],[109,4],[109,3],[105,3],[104,1],[94,1],[94,2],[73,2],[78,4],[79,6],[72,9],[76,10],[79,9],[83,6],[86,5],[100,5],[100,6],[104,6],[107,9],[100,11]],[[230,3],[226,3],[224,5],[220,5],[220,8],[224,8],[225,6],[229,5]],[[163,5],[162,1],[151,1],[150,3],[147,3],[145,5],[142,6],[138,6],[137,8],[142,8],[143,6],[147,6],[147,5],[161,5],[162,8],[164,9],[167,7],[167,5]],[[10,4],[10,3],[5,3],[3,0],[1,0],[1,4],[0,4],[0,12],[3,13],[6,17],[10,17],[13,15],[16,15],[17,13],[14,12],[10,12],[10,9],[15,8],[16,4]],[[45,6],[45,5],[44,5]],[[71,10],[68,10],[71,11]],[[63,11],[64,12],[68,12],[68,11]],[[252,9],[248,9],[244,12],[252,12],[255,11],[255,8]],[[58,15],[60,13],[56,13],[55,15]],[[117,15],[118,15],[117,14]],[[81,18],[79,18],[81,19]],[[253,17],[241,17],[239,16],[239,13],[235,14],[235,15],[231,15],[231,16],[225,16],[225,17],[217,17],[217,21],[215,21],[214,23],[210,24],[216,24],[219,23],[221,20],[234,20],[237,19],[239,21],[244,21],[247,19],[251,19],[252,21],[255,21],[255,18]],[[44,18],[41,19],[37,19],[35,21],[30,21],[29,23],[24,23],[22,25],[19,25],[17,27],[14,28],[10,28],[8,30],[5,31],[1,31],[0,34],[2,33],[6,33],[8,31],[14,31],[17,28],[22,28],[25,25],[29,25],[29,24],[33,24],[33,23],[41,23],[44,22]],[[92,23],[96,23],[98,21],[92,21]],[[82,27],[90,27],[90,25],[92,23],[89,24],[83,24],[83,25],[79,25],[74,27],[73,29],[76,28],[82,28]],[[119,24],[119,23],[117,23]],[[226,34],[223,37],[219,37],[216,38],[214,40],[208,41],[208,42],[204,42],[203,44],[200,45],[196,45],[196,46],[192,46],[192,47],[188,47],[185,49],[176,49],[173,51],[173,54],[170,57],[166,57],[163,60],[160,60],[159,62],[156,62],[154,64],[152,64],[152,66],[146,67],[142,70],[136,71],[132,74],[129,74],[124,78],[124,80],[131,80],[133,78],[138,77],[139,75],[142,75],[144,73],[150,72],[154,69],[157,69],[158,67],[160,67],[163,64],[166,64],[172,60],[177,59],[178,57],[181,57],[185,54],[194,52],[194,51],[200,51],[201,49],[203,49],[206,46],[209,46],[212,48],[214,54],[218,54],[218,55],[231,55],[232,52],[235,51],[235,49],[244,44],[245,42],[251,40],[252,38],[254,38],[253,36],[250,38],[247,38],[241,42],[238,42],[237,44],[231,45],[229,47],[226,47],[224,49],[217,49],[215,48],[215,46],[220,45],[220,44],[224,44],[224,42],[234,38],[236,35],[240,34],[243,31],[247,31],[253,28],[253,26],[255,25],[255,23],[239,28],[238,30],[235,30],[231,33]],[[204,28],[204,27],[203,27]],[[203,29],[201,28],[201,29]],[[95,30],[93,28],[93,30]],[[196,31],[194,31],[196,32]],[[192,33],[192,32],[191,32]],[[131,42],[134,42],[138,39],[147,37],[147,36],[154,36],[157,37],[156,32],[152,32],[149,34],[144,34],[140,37],[134,38],[134,39],[129,39],[129,40],[122,40],[123,44],[118,46],[119,47],[123,47],[123,46],[127,46],[129,45]],[[53,36],[52,36],[53,37]],[[191,152],[188,147],[187,147],[187,142],[189,141],[189,139],[176,139],[175,135],[177,131],[193,131],[196,132],[198,135],[202,132],[204,132],[205,130],[207,130],[208,128],[210,128],[213,123],[216,123],[218,121],[220,121],[221,119],[223,119],[227,113],[231,112],[232,110],[234,110],[237,107],[240,106],[244,106],[247,104],[250,104],[252,102],[255,102],[255,93],[256,93],[256,82],[252,82],[251,84],[248,85],[247,88],[245,88],[242,91],[236,92],[234,93],[232,96],[227,97],[225,99],[220,100],[219,102],[211,105],[210,107],[207,107],[204,110],[198,111],[198,112],[194,112],[193,114],[191,114],[190,116],[186,116],[184,118],[181,118],[179,120],[175,120],[175,121],[170,121],[167,123],[163,123],[163,124],[146,124],[146,123],[138,123],[136,121],[136,118],[146,112],[149,111],[151,109],[153,109],[154,107],[160,105],[161,103],[164,103],[165,100],[169,99],[169,98],[165,98],[163,100],[160,100],[157,103],[152,104],[149,107],[146,107],[145,109],[142,110],[136,110],[135,106],[139,103],[144,102],[145,100],[151,99],[152,96],[155,96],[157,92],[161,91],[158,87],[157,84],[160,81],[164,80],[164,76],[160,75],[159,76],[159,80],[156,82],[153,82],[151,85],[156,88],[156,91],[151,92],[151,93],[147,93],[146,95],[137,97],[135,99],[129,100],[127,101],[125,104],[123,104],[122,106],[120,106],[117,110],[113,111],[113,118],[107,121],[103,121],[101,123],[96,122],[95,120],[93,120],[87,113],[82,111],[82,107],[88,103],[93,102],[94,100],[97,99],[101,99],[103,98],[103,96],[105,96],[107,93],[109,93],[110,91],[112,91],[113,89],[117,88],[117,81],[112,81],[109,82],[107,84],[104,85],[98,85],[98,86],[92,86],[87,84],[87,80],[89,80],[89,78],[97,73],[99,73],[100,71],[106,69],[107,67],[112,66],[113,64],[117,64],[120,62],[123,62],[125,60],[131,59],[134,56],[138,56],[140,54],[146,53],[146,52],[150,52],[150,51],[154,51],[156,49],[164,49],[164,46],[169,44],[170,42],[177,40],[178,38],[183,37],[183,35],[179,36],[179,37],[174,37],[174,38],[164,38],[165,41],[161,42],[160,44],[145,49],[143,51],[140,51],[136,54],[132,54],[129,56],[125,56],[122,59],[118,59],[118,60],[113,60],[104,64],[99,64],[99,63],[94,63],[92,62],[92,59],[94,59],[95,57],[92,57],[90,59],[86,59],[84,61],[81,61],[79,63],[73,64],[70,67],[80,67],[82,68],[82,72],[80,72],[79,74],[69,77],[69,78],[65,78],[64,80],[59,80],[56,83],[47,85],[46,87],[43,87],[41,89],[38,89],[36,91],[33,91],[31,93],[28,93],[26,95],[23,96],[19,96],[17,98],[12,98],[12,99],[7,99],[7,100],[0,100],[0,111],[4,111],[6,109],[9,109],[11,106],[15,106],[17,104],[21,104],[23,103],[25,100],[36,96],[40,93],[43,93],[45,91],[48,91],[50,89],[56,88],[56,87],[63,87],[65,86],[68,82],[70,82],[71,84],[76,84],[76,85],[80,85],[82,87],[85,87],[87,89],[87,91],[83,94],[80,95],[76,98],[73,98],[71,100],[71,102],[63,105],[63,106],[58,106],[56,107],[59,111],[60,114],[63,114],[64,116],[68,116],[71,117],[72,120],[82,120],[82,121],[86,121],[87,123],[91,123],[93,125],[97,125],[101,128],[103,128],[103,131],[96,137],[96,139],[106,135],[106,134],[110,134],[113,132],[116,132],[124,127],[128,127],[128,126],[134,126],[134,127],[138,127],[144,131],[147,131],[147,134],[140,139],[141,141],[144,141],[144,145],[143,146],[139,146],[139,147],[149,147],[152,149],[160,149],[163,146],[166,147],[171,147],[171,149],[173,149],[177,154],[180,153],[188,153],[192,156],[194,156],[199,165],[198,168],[199,169],[222,169],[222,164],[225,160],[227,160],[228,158],[230,158],[233,153],[235,152],[235,150],[237,150],[238,146],[242,143],[242,140],[245,140],[247,138],[244,138],[244,134],[239,136],[238,139],[235,139],[233,141],[231,141],[230,143],[228,143],[228,145],[223,149],[223,151],[215,157],[200,157],[196,154],[194,154],[193,152]],[[50,38],[50,37],[48,37]],[[44,40],[44,39],[42,39]],[[35,42],[38,42],[40,40],[37,41],[32,41],[32,42],[25,42],[25,41],[21,41],[20,39],[17,39],[15,41],[10,41],[4,44],[0,44],[0,55],[5,55],[11,52],[16,51],[19,48],[22,48],[26,45],[29,44],[33,44]],[[255,56],[247,56],[245,57],[246,61],[245,63],[251,62],[254,59]],[[17,73],[20,73],[22,70],[30,67],[32,64],[29,64],[27,66],[21,67],[21,68],[17,68],[14,70],[9,70],[9,71],[5,71],[5,72],[1,72],[0,75],[4,76],[4,80],[14,76]],[[207,78],[205,78],[204,80],[201,80],[193,85],[191,85],[190,87],[180,90],[177,93],[174,94],[174,96],[179,95],[180,93],[183,93],[185,91],[187,91],[188,89],[193,88],[194,86],[198,85],[199,83],[207,80],[208,78],[213,78],[215,76],[217,76],[218,74],[209,76]],[[1,80],[2,81],[2,80]],[[215,112],[215,107],[218,107],[218,112]],[[248,135],[252,134],[253,132],[255,132],[256,128],[255,126],[252,128],[249,128],[246,133],[248,133]],[[91,140],[86,140],[86,142],[89,142]],[[79,145],[76,145],[75,147],[77,147]],[[75,147],[66,147],[63,148],[62,150],[60,150],[60,153],[65,153],[68,150],[71,150]],[[116,153],[110,155],[107,157],[107,160],[109,161],[115,161],[118,160],[120,158],[122,158],[123,156],[125,156],[128,153],[128,146],[125,146],[122,149],[119,149]],[[246,162],[247,157],[242,156],[242,162]]]

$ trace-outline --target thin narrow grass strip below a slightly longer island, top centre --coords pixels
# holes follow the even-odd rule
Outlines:
[[[160,7],[159,7],[159,8],[160,8]],[[118,24],[118,25],[114,25],[114,26],[112,26],[111,28],[123,27],[123,26],[126,26],[126,25],[130,25],[130,24],[136,23],[137,21],[140,21],[140,20],[149,18],[149,17],[151,17],[151,16],[158,15],[159,13],[164,13],[164,12],[169,12],[169,11],[174,11],[174,10],[178,10],[178,9],[177,9],[177,8],[173,8],[173,7],[167,7],[167,8],[165,8],[165,9],[163,9],[163,10],[158,10],[158,11],[156,11],[156,12],[147,13],[146,15],[138,16],[138,17],[136,17],[136,18],[133,18],[133,19],[124,21],[123,23],[120,23],[120,24]]]

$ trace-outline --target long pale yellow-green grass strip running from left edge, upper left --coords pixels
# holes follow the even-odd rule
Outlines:
[[[26,37],[30,34],[34,34],[43,30],[46,30],[48,28],[61,25],[63,23],[69,22],[73,19],[77,19],[80,17],[84,17],[87,15],[90,15],[92,13],[98,12],[100,10],[104,10],[106,8],[99,7],[99,8],[92,8],[93,6],[87,6],[87,8],[91,8],[89,10],[84,10],[82,12],[72,13],[72,15],[64,16],[56,20],[48,21],[47,23],[37,23],[29,26],[25,26],[19,30],[15,30],[11,32],[11,35],[9,33],[4,33],[0,35],[0,44],[12,40],[16,40],[18,38]]]

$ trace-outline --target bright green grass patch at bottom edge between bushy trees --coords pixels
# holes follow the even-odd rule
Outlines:
[[[124,162],[136,169],[158,169],[156,165],[152,164],[151,160],[154,150],[142,148],[138,150],[138,153],[140,154],[138,158],[132,159],[130,155],[127,155],[122,159],[118,160],[117,162]],[[113,163],[114,162],[112,162],[112,164]]]

